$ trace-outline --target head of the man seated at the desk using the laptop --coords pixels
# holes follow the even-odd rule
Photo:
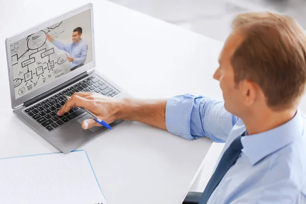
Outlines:
[[[296,109],[306,83],[306,35],[289,16],[245,13],[232,25],[214,78],[225,109],[247,112]]]

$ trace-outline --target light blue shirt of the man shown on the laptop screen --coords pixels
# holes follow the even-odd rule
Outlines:
[[[70,57],[73,57],[74,60],[70,62],[70,69],[85,63],[88,46],[83,39],[81,39],[77,44],[75,44],[74,42],[72,42],[71,44],[64,44],[56,40],[53,41],[53,44],[58,49],[62,49],[65,52],[69,53]]]

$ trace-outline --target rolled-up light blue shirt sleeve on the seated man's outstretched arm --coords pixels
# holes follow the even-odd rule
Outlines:
[[[175,135],[192,140],[209,137],[225,142],[239,118],[224,108],[224,102],[191,94],[169,98],[166,105],[166,127]]]

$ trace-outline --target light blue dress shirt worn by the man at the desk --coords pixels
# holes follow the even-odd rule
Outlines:
[[[298,110],[285,124],[244,136],[243,149],[208,203],[306,203],[306,124]],[[224,150],[246,131],[223,101],[184,94],[166,106],[167,130],[186,139],[207,136],[225,142]],[[218,164],[217,162],[217,164]]]

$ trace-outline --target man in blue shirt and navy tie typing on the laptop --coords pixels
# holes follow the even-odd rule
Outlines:
[[[226,142],[200,204],[306,203],[306,118],[298,109],[306,34],[273,13],[240,14],[232,28],[214,74],[224,103],[190,94],[141,100],[75,93],[58,114],[83,107],[108,123],[135,120],[187,139]]]

